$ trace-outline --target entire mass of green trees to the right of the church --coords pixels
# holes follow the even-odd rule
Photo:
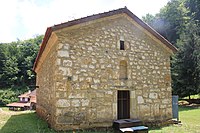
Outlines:
[[[171,0],[143,20],[178,47],[172,57],[173,94],[200,93],[200,1]]]

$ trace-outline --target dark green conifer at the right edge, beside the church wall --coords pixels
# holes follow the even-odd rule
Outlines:
[[[173,66],[174,93],[181,97],[200,93],[200,27],[191,21],[185,30]]]

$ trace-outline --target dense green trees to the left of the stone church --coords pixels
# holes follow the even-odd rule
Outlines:
[[[42,38],[0,44],[0,88],[35,84],[32,67]]]

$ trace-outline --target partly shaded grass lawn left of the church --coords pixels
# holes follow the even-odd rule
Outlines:
[[[0,112],[0,133],[55,133],[33,111]]]

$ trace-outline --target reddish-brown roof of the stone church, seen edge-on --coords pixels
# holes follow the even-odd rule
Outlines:
[[[63,28],[66,28],[66,27],[70,27],[70,26],[73,26],[73,25],[81,24],[81,23],[84,23],[84,22],[104,18],[104,17],[122,14],[122,13],[125,13],[129,17],[131,17],[136,23],[138,23],[140,26],[142,26],[144,29],[146,29],[148,32],[150,32],[154,37],[156,37],[158,40],[160,40],[164,45],[166,45],[173,52],[177,51],[177,48],[175,46],[173,46],[168,40],[166,40],[158,32],[156,32],[154,29],[152,29],[148,24],[144,23],[141,19],[139,19],[136,15],[134,15],[130,10],[128,10],[126,7],[124,7],[124,8],[120,8],[120,9],[117,9],[117,10],[112,10],[112,11],[108,11],[108,12],[104,12],[104,13],[94,14],[94,15],[87,16],[87,17],[84,17],[84,18],[75,19],[75,20],[72,20],[72,21],[68,21],[68,22],[65,22],[65,23],[54,25],[52,27],[48,27],[46,32],[45,32],[45,36],[43,38],[42,45],[40,47],[39,53],[38,53],[37,58],[35,60],[33,70],[35,70],[35,68],[37,67],[38,60],[40,59],[40,57],[41,57],[41,55],[42,55],[42,53],[43,53],[43,51],[44,51],[44,49],[47,45],[47,42],[48,42],[53,31],[63,29]]]

